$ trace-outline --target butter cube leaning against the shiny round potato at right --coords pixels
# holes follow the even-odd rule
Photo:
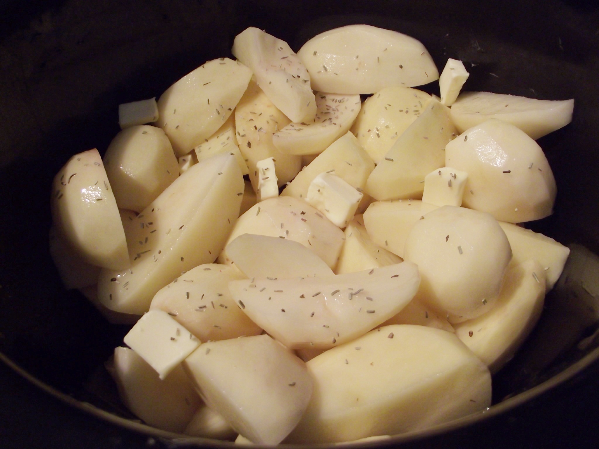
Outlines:
[[[461,206],[468,174],[451,167],[430,172],[424,178],[422,202],[435,206]]]

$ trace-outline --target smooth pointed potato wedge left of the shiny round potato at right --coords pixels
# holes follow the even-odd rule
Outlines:
[[[424,177],[445,165],[444,148],[455,132],[448,108],[431,99],[371,172],[365,192],[378,200],[422,198]]]

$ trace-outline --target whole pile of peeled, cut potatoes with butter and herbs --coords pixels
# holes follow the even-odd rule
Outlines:
[[[573,100],[460,90],[351,25],[248,28],[52,187],[65,287],[134,324],[107,362],[147,424],[240,444],[385,438],[491,405],[567,247],[535,141]],[[413,86],[439,82],[440,97]],[[372,94],[365,101],[360,95]]]

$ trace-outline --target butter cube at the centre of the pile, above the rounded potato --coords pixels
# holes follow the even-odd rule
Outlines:
[[[362,193],[343,178],[321,173],[310,183],[306,201],[339,227],[346,227],[358,209]]]

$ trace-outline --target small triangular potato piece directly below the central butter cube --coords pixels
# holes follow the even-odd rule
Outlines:
[[[356,215],[345,228],[345,241],[335,274],[354,273],[400,262],[401,257],[373,243],[364,227],[364,218]]]

